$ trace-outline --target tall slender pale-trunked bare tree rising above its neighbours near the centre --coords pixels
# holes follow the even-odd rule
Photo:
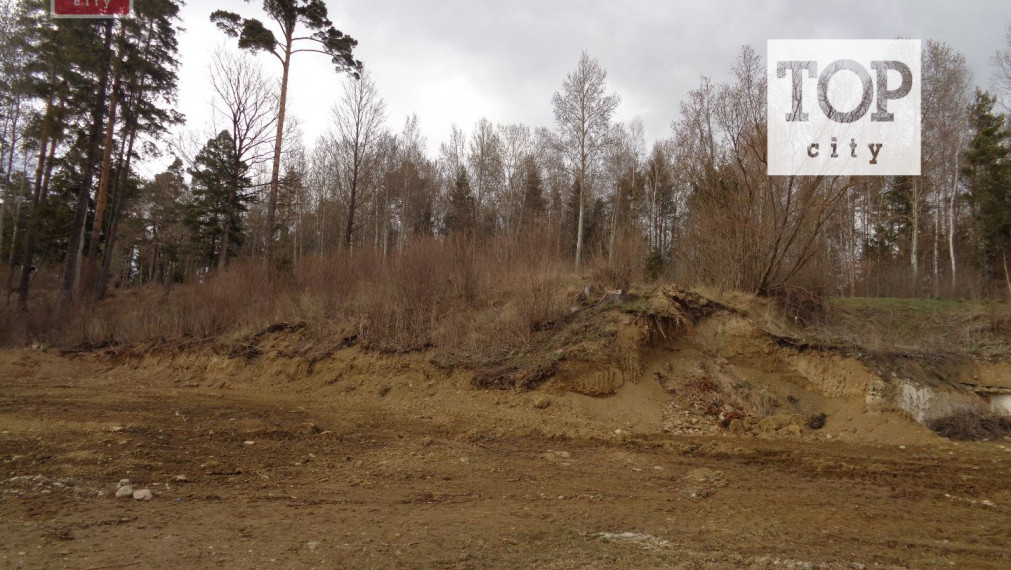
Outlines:
[[[608,142],[611,117],[621,103],[608,94],[608,72],[583,52],[576,69],[568,74],[561,91],[551,97],[559,141],[564,149],[578,188],[579,214],[575,238],[575,267],[582,266],[583,225],[590,174]]]

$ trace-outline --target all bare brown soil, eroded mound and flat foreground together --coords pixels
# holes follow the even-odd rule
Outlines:
[[[914,379],[673,289],[580,310],[478,371],[301,326],[0,353],[0,567],[1011,566],[1011,444]]]

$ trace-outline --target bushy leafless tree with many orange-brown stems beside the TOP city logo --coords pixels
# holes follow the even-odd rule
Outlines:
[[[718,87],[704,79],[675,123],[675,164],[693,194],[685,255],[703,281],[769,293],[819,253],[851,182],[767,176],[765,69],[745,46],[733,74]]]

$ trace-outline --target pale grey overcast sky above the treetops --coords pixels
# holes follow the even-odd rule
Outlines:
[[[210,128],[208,63],[234,45],[210,22],[214,9],[258,16],[262,2],[191,0],[182,11],[180,110],[186,128]],[[338,29],[358,39],[358,59],[399,130],[417,113],[435,151],[456,123],[551,126],[551,95],[582,50],[622,96],[618,119],[640,117],[652,141],[670,133],[679,102],[702,75],[725,78],[742,44],[764,57],[767,39],[893,38],[945,41],[966,55],[974,84],[991,81],[990,58],[1005,45],[1008,0],[328,0]],[[280,64],[261,58],[280,77]],[[341,81],[328,58],[295,57],[289,112],[307,142],[328,128]]]

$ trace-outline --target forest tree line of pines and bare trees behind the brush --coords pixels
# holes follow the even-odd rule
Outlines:
[[[955,48],[924,41],[921,176],[793,178],[765,174],[765,65],[749,46],[729,79],[703,78],[671,109],[664,139],[615,118],[621,97],[584,52],[545,94],[553,124],[452,125],[430,156],[319,0],[265,2],[265,21],[208,8],[236,49],[209,70],[214,127],[177,136],[180,4],[60,21],[45,0],[0,6],[0,259],[22,309],[34,268],[70,304],[241,258],[285,272],[338,251],[494,250],[532,233],[577,271],[633,260],[686,285],[1011,293],[1011,34],[995,46],[996,93],[974,88]],[[344,90],[303,117],[329,124],[307,144],[287,77],[318,57]],[[165,157],[164,172],[137,173]]]

